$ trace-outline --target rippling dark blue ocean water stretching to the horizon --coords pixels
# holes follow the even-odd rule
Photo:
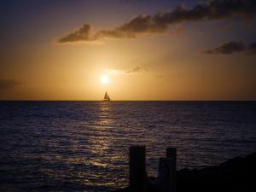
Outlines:
[[[128,182],[129,146],[156,175],[256,151],[256,102],[0,102],[0,191],[111,191]]]

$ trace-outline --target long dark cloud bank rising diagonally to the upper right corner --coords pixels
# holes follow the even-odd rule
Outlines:
[[[137,15],[113,29],[91,32],[91,26],[84,24],[74,32],[69,32],[58,43],[93,42],[106,38],[137,38],[140,34],[154,34],[168,31],[170,25],[201,20],[247,19],[256,15],[255,0],[210,0],[187,9],[178,5],[176,9],[156,15]]]

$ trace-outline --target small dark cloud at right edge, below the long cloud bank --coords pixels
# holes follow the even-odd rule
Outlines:
[[[209,55],[230,55],[236,52],[243,52],[247,55],[256,55],[256,43],[249,44],[248,46],[246,46],[246,44],[244,44],[243,42],[230,41],[221,44],[220,46],[214,49],[208,49],[203,51],[203,53]]]

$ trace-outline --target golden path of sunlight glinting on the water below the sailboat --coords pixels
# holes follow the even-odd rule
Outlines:
[[[90,140],[91,148],[90,154],[95,154],[96,158],[93,160],[88,160],[88,163],[93,166],[99,166],[102,168],[106,168],[110,171],[110,169],[118,168],[116,162],[119,160],[127,160],[127,156],[123,156],[120,154],[111,154],[111,144],[113,143],[113,136],[109,134],[109,129],[113,129],[112,125],[115,124],[114,118],[111,117],[113,108],[108,102],[99,103],[99,120],[97,122],[97,126],[95,131],[97,132],[97,136],[91,136]],[[110,153],[109,153],[110,152]],[[108,158],[107,155],[108,154]],[[128,168],[128,167],[126,167]],[[119,183],[115,179],[113,179],[113,175],[111,172],[106,172],[104,175],[94,174],[91,177],[93,179],[88,179],[84,181],[84,184],[88,185],[96,185],[96,186],[108,186],[108,187],[122,187],[124,183],[126,183],[125,179],[119,180]],[[96,181],[104,181],[102,183],[98,183]]]

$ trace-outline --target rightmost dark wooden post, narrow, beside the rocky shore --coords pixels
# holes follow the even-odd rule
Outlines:
[[[170,160],[170,170],[169,170],[169,192],[176,192],[177,190],[177,149],[176,148],[166,148],[166,157]]]

